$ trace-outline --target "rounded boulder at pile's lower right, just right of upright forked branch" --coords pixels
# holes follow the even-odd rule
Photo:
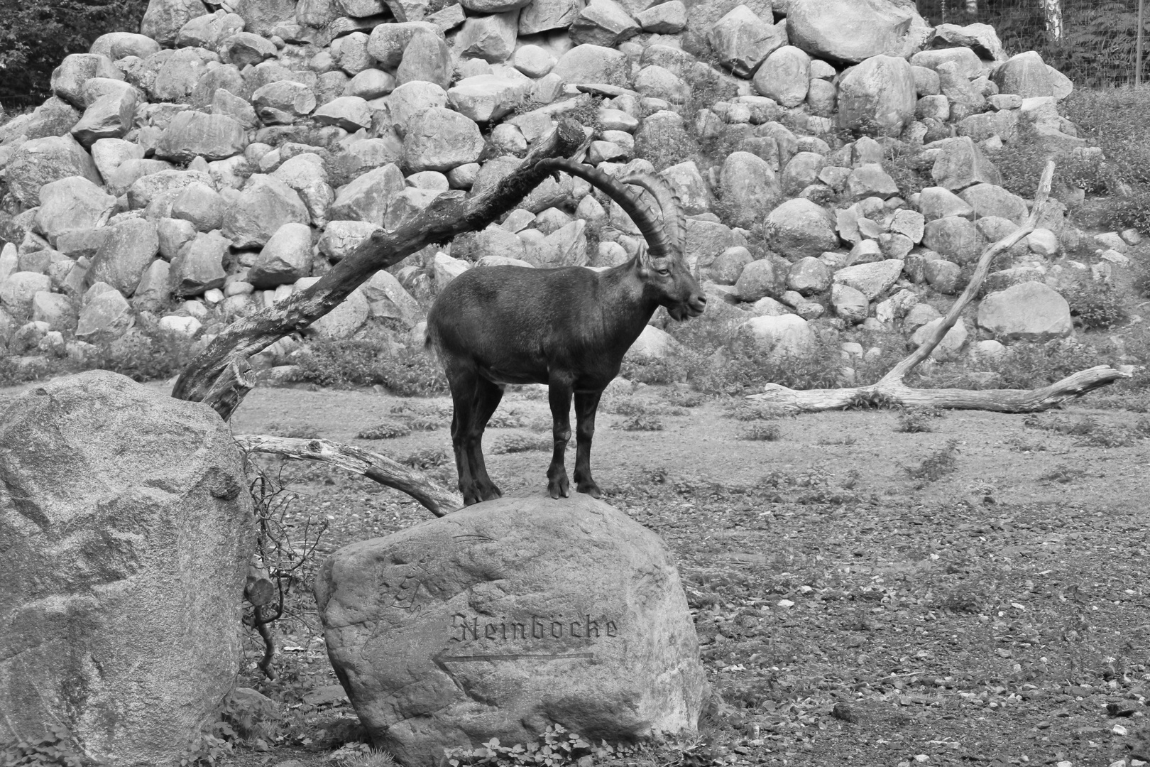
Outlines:
[[[1011,285],[983,298],[979,327],[1000,342],[1046,342],[1074,331],[1066,299],[1040,282]]]

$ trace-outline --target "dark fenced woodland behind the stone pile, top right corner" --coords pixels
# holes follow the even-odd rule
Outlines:
[[[1150,0],[1147,16],[1150,16]],[[931,24],[992,25],[1009,53],[1037,51],[1086,87],[1134,84],[1140,0],[917,0],[919,13]],[[1060,9],[1061,34],[1048,29],[1046,6]],[[1144,18],[1143,29],[1150,31]],[[1142,63],[1142,78],[1150,69]],[[1148,80],[1150,82],[1150,80]]]

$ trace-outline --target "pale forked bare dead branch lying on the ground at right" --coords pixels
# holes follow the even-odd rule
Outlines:
[[[1026,223],[1013,233],[988,247],[974,269],[969,284],[958,300],[946,312],[946,316],[935,328],[930,337],[919,345],[914,352],[890,369],[890,373],[871,386],[853,386],[849,389],[811,389],[805,391],[788,389],[779,384],[767,384],[767,391],[751,394],[753,399],[775,405],[790,411],[818,412],[841,409],[852,405],[903,405],[907,407],[945,407],[953,409],[996,411],[999,413],[1035,413],[1081,397],[1082,394],[1105,386],[1120,378],[1129,378],[1128,373],[1116,370],[1109,365],[1101,365],[1081,370],[1042,389],[988,389],[971,391],[966,389],[911,389],[903,378],[920,362],[930,355],[935,346],[945,337],[966,305],[974,299],[990,270],[994,258],[1011,248],[1015,243],[1034,231],[1042,204],[1050,197],[1050,184],[1055,176],[1055,163],[1048,162],[1034,195],[1034,207]]]

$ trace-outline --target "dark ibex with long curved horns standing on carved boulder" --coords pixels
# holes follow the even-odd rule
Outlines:
[[[683,256],[685,221],[670,186],[657,176],[614,179],[581,162],[542,167],[586,179],[615,200],[646,240],[630,261],[595,271],[583,267],[484,267],[455,277],[428,312],[427,345],[451,386],[451,442],[463,504],[503,496],[483,463],[483,431],[507,384],[547,384],[554,452],[547,468],[552,498],[569,494],[564,451],[575,397],[575,489],[598,498],[591,478],[591,437],[603,390],[651,315],[666,306],[675,320],[703,314],[706,297]],[[639,190],[659,204],[656,213]],[[661,214],[661,215],[660,215]]]

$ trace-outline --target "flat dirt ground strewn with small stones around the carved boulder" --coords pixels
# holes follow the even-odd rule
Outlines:
[[[592,466],[605,500],[676,553],[720,698],[700,739],[614,764],[1150,760],[1143,416],[1086,399],[1029,417],[950,412],[904,432],[898,411],[743,421],[730,417],[743,400],[683,404],[673,388],[611,397]],[[453,484],[450,412],[446,398],[256,389],[232,424],[414,457]],[[622,428],[636,414],[662,429]],[[356,438],[383,423],[415,430]],[[508,394],[494,423],[492,478],[542,497],[549,453],[499,451],[546,444],[545,400]],[[742,438],[764,424],[776,440]],[[321,554],[429,516],[325,466],[289,462],[282,478],[294,529],[327,521]],[[306,591],[290,606],[279,677],[254,670],[256,641],[244,676],[286,719],[222,764],[328,764],[354,731]]]

